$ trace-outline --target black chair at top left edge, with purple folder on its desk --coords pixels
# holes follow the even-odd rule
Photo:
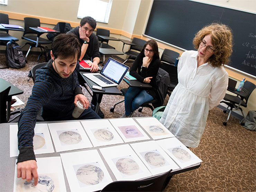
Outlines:
[[[7,14],[0,13],[0,23],[9,24],[9,17]],[[18,38],[9,35],[7,29],[3,29],[0,31],[0,45],[6,46],[11,39],[13,39],[15,42],[19,40]]]

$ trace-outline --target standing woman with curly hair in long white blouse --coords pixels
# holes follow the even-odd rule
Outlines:
[[[185,51],[177,66],[179,83],[160,122],[185,146],[197,147],[208,112],[225,97],[228,73],[223,64],[232,53],[232,33],[226,25],[210,24],[194,37],[197,51]]]

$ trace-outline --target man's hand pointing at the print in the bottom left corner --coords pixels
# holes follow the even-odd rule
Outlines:
[[[17,177],[26,179],[30,182],[34,177],[34,185],[37,185],[38,174],[37,174],[37,164],[35,160],[28,160],[17,163]]]

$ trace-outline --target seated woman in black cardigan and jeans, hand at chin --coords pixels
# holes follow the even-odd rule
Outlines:
[[[140,82],[149,83],[152,88],[129,87],[125,94],[125,113],[121,118],[131,117],[141,104],[156,97],[156,74],[160,64],[157,43],[155,40],[148,40],[132,64],[130,75]]]

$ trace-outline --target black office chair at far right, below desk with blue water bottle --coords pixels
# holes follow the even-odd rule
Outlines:
[[[246,81],[242,88],[242,92],[246,93],[245,97],[241,97],[239,95],[234,96],[234,95],[230,95],[230,94],[225,95],[225,97],[224,97],[225,101],[221,101],[220,103],[225,103],[228,105],[228,107],[227,107],[227,109],[223,110],[223,112],[226,113],[228,111],[228,108],[230,108],[230,109],[229,109],[229,113],[228,113],[228,118],[225,122],[223,122],[223,125],[225,125],[225,126],[227,125],[228,119],[229,119],[231,111],[233,109],[240,109],[240,111],[243,114],[244,119],[246,118],[244,115],[244,112],[240,106],[247,107],[247,102],[250,97],[250,94],[253,92],[253,90],[255,88],[256,88],[255,84],[253,84],[249,81]],[[240,121],[240,123],[241,123],[241,121]]]

